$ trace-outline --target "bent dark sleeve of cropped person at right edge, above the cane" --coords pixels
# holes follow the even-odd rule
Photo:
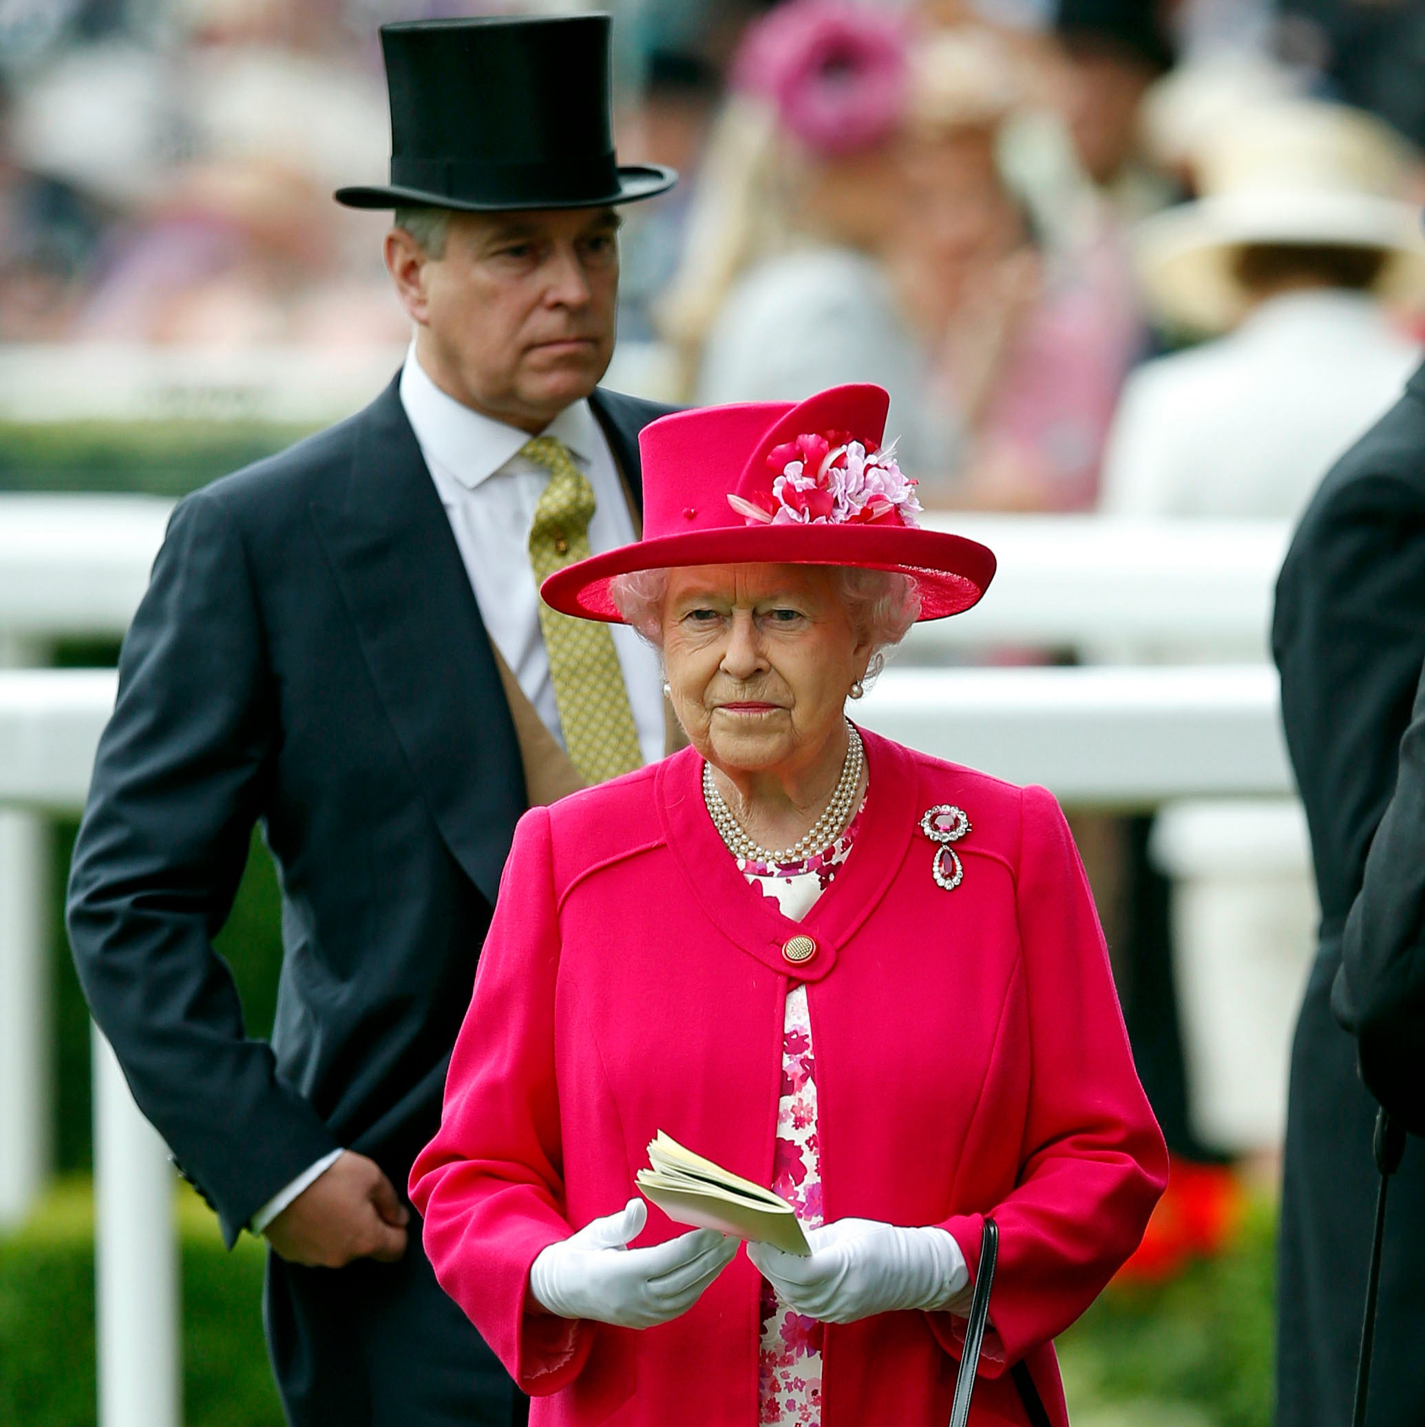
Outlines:
[[[1347,918],[1332,1005],[1357,1036],[1367,1087],[1425,1134],[1425,675]]]

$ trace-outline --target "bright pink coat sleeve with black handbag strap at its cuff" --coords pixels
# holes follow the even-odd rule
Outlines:
[[[1167,1147],[1133,1066],[1068,823],[1043,788],[1024,789],[1021,808],[1017,995],[1028,1040],[1028,1103],[1016,1186],[990,1210],[1000,1256],[981,1360],[989,1377],[1083,1314],[1138,1247],[1168,1177]],[[1007,1025],[1001,1036],[1014,1033]],[[996,1106],[981,1109],[991,1120],[1003,1114]],[[967,1153],[973,1146],[971,1137]],[[960,1244],[973,1279],[984,1216],[959,1214],[940,1227]],[[946,1347],[960,1351],[961,1320],[937,1313],[931,1326]]]

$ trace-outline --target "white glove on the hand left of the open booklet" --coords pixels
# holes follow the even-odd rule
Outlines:
[[[686,1313],[732,1263],[739,1240],[695,1229],[652,1249],[626,1247],[646,1222],[648,1206],[635,1197],[549,1244],[529,1267],[529,1291],[562,1319],[620,1329],[650,1329]]]

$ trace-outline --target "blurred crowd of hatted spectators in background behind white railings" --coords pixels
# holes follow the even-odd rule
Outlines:
[[[0,4],[0,342],[398,348],[330,194],[382,174],[377,24],[481,7]],[[876,380],[927,505],[1289,515],[1409,367],[1416,0],[612,9],[620,153],[685,174],[625,234],[650,394]]]

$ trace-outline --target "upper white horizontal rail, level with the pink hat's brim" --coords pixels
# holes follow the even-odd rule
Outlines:
[[[171,508],[144,495],[0,495],[0,631],[123,634]],[[926,524],[989,545],[998,574],[970,614],[911,631],[902,664],[996,644],[1265,655],[1282,522],[931,512]]]

